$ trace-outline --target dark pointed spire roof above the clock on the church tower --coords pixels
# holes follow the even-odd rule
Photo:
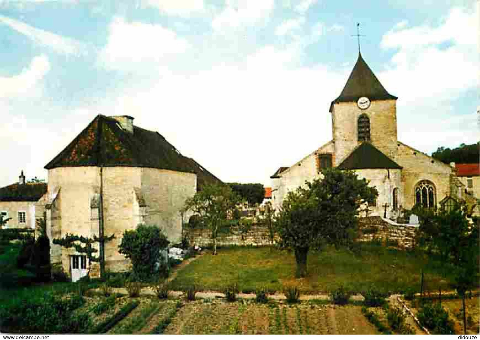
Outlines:
[[[370,100],[398,98],[385,90],[384,86],[380,83],[359,53],[357,62],[350,73],[350,77],[348,77],[342,93],[340,93],[330,106],[330,112],[332,111],[334,103],[356,102],[360,97],[368,97]]]

